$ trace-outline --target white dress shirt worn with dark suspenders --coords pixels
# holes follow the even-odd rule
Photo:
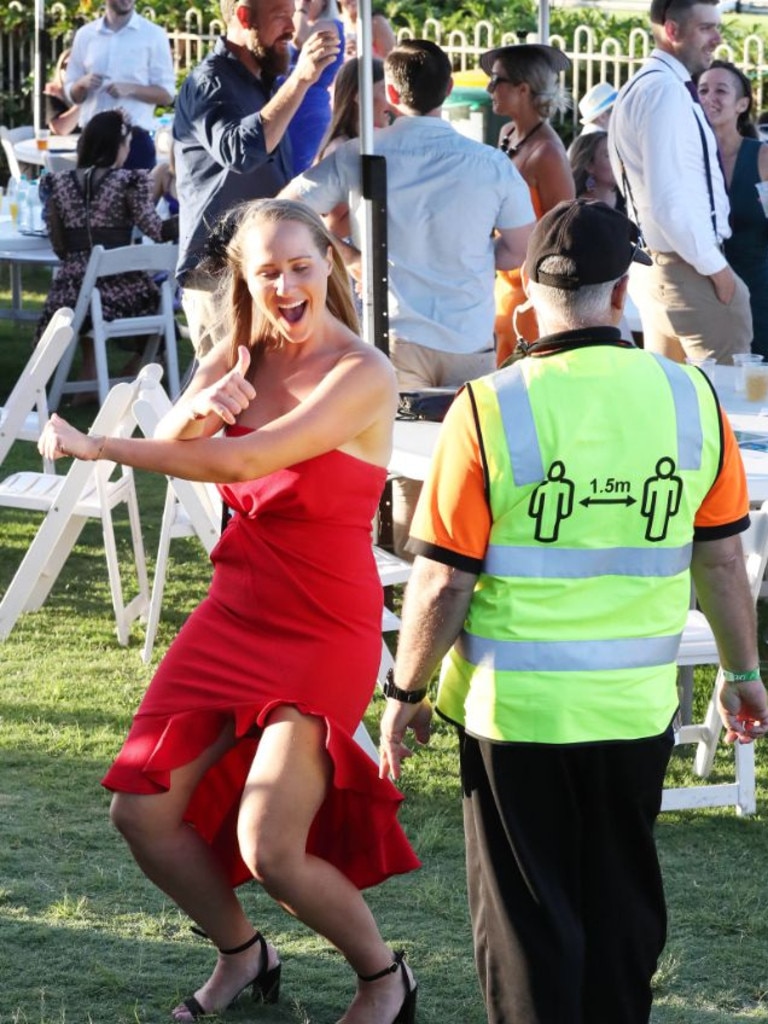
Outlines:
[[[730,238],[730,207],[715,135],[688,92],[689,81],[679,60],[653,50],[618,93],[608,126],[608,152],[628,213],[639,221],[648,247],[677,253],[709,275],[726,266],[720,247]],[[716,229],[699,125],[710,157]]]

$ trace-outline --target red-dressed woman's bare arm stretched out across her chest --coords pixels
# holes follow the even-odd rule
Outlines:
[[[248,349],[241,346],[242,374],[249,360]],[[241,437],[102,438],[82,434],[54,414],[38,446],[46,458],[109,459],[213,483],[257,479],[339,447],[383,466],[391,449],[396,401],[389,360],[377,349],[360,346],[342,356],[305,401]]]

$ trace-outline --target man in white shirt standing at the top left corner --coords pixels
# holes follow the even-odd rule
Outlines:
[[[134,10],[136,0],[106,0],[102,17],[75,34],[67,92],[80,105],[80,126],[121,106],[133,124],[125,167],[155,166],[155,108],[173,102],[173,59],[165,29]]]

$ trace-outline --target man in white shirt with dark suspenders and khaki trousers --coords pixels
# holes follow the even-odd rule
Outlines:
[[[653,259],[631,276],[645,347],[682,361],[750,350],[746,286],[728,265],[730,207],[691,76],[721,42],[715,0],[652,0],[656,48],[618,93],[611,165]]]

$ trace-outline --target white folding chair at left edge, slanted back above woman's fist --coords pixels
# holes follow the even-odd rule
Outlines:
[[[72,341],[72,309],[58,309],[50,318],[29,362],[0,408],[0,464],[13,441],[37,441],[48,419],[45,387]],[[46,472],[54,472],[52,462],[43,463]]]

